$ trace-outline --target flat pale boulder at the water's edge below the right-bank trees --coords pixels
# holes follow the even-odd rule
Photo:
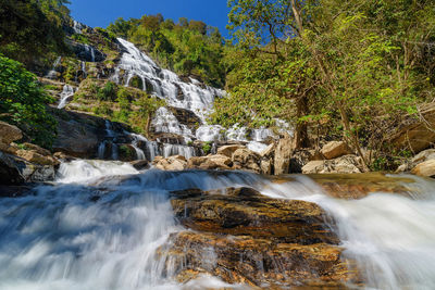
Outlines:
[[[363,173],[362,159],[357,155],[345,155],[334,160],[310,161],[302,167],[303,174],[319,173]]]

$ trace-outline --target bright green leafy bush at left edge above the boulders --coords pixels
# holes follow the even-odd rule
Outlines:
[[[52,98],[21,63],[1,55],[0,96],[0,119],[18,126],[33,142],[50,148],[57,128],[47,111]]]

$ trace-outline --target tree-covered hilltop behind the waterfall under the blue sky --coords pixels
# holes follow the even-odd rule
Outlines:
[[[216,27],[181,18],[177,24],[161,14],[140,20],[116,20],[108,28],[112,35],[128,38],[159,62],[181,75],[194,75],[204,83],[223,87],[225,49]]]

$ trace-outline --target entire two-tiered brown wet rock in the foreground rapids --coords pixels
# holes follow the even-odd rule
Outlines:
[[[173,234],[160,249],[182,282],[200,274],[260,289],[339,289],[358,280],[325,212],[313,203],[274,200],[250,188],[171,194],[177,218],[196,230]]]

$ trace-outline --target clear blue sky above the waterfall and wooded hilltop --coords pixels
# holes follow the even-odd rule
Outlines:
[[[138,18],[162,13],[164,18],[203,21],[216,26],[227,37],[225,26],[229,12],[226,0],[71,0],[72,16],[92,27],[107,27],[117,17]]]

